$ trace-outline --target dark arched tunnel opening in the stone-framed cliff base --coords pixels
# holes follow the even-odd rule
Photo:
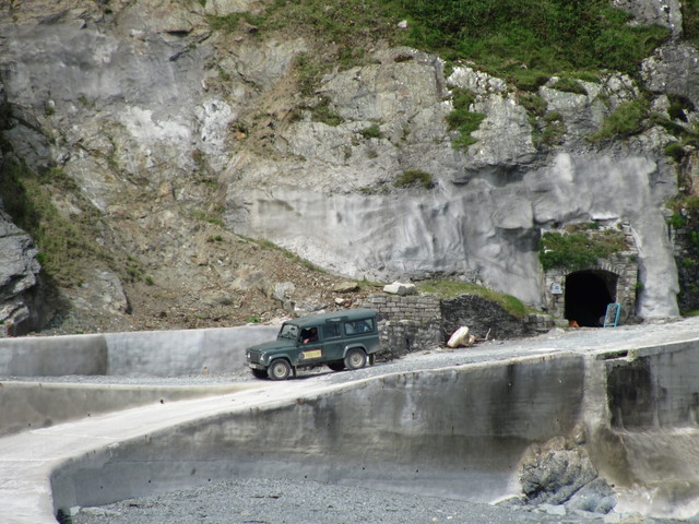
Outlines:
[[[618,275],[607,271],[579,271],[566,276],[565,317],[580,326],[601,327],[607,305],[615,301]]]

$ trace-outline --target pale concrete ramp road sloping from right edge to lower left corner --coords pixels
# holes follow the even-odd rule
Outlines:
[[[246,381],[239,392],[217,396],[157,402],[78,421],[24,431],[0,439],[0,508],[7,524],[55,523],[50,476],[61,464],[120,442],[198,419],[250,408],[270,409],[299,398],[312,398],[372,377],[446,368],[470,362],[520,359],[557,353],[643,352],[668,343],[699,340],[699,319],[675,323],[606,330],[557,332],[535,340],[491,342],[459,350],[433,350],[400,361],[343,373],[324,373],[287,382]],[[303,376],[301,376],[303,377]],[[0,392],[3,383],[0,382]]]

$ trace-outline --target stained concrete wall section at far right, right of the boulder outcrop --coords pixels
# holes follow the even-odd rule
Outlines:
[[[620,508],[698,514],[699,341],[630,350],[596,370],[606,418],[590,448],[601,474],[620,488]]]

